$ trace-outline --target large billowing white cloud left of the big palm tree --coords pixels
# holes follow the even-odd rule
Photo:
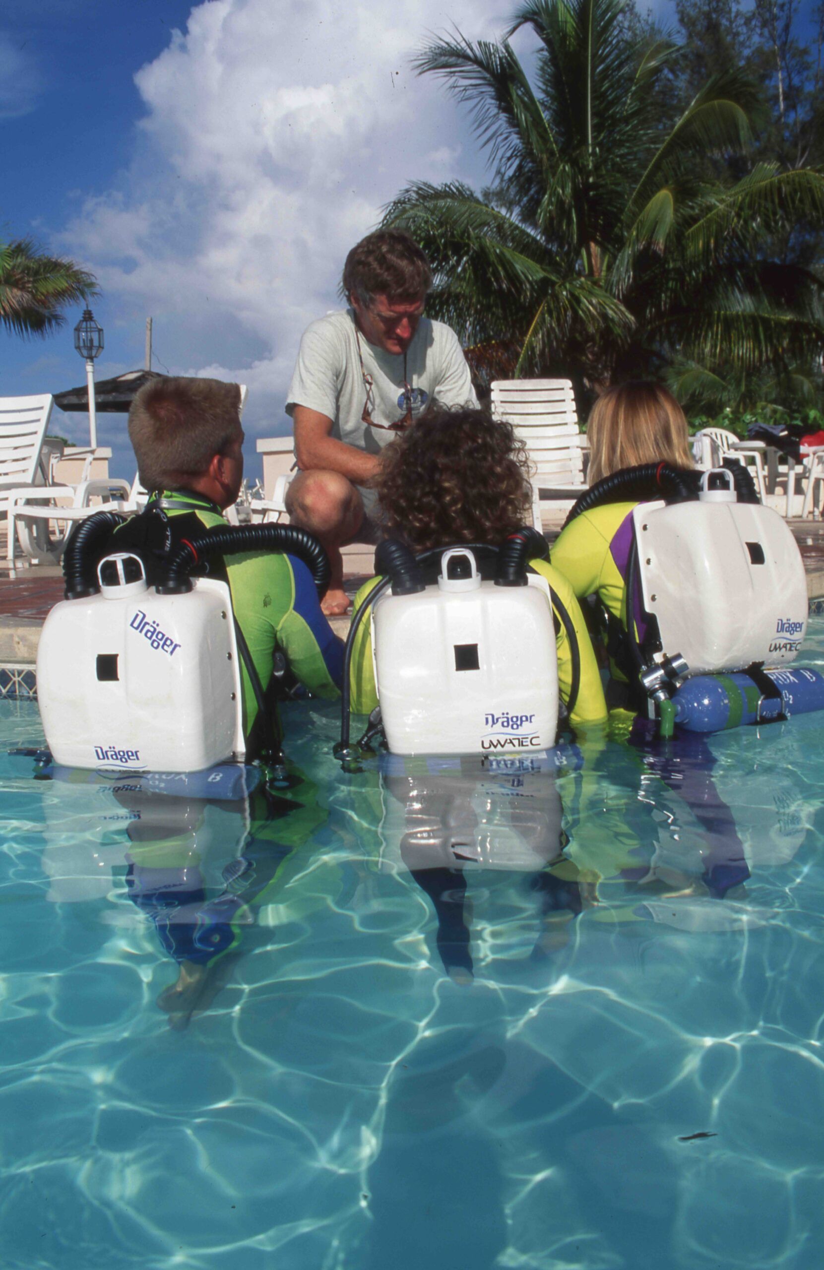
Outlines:
[[[507,0],[453,0],[490,37]],[[409,179],[479,174],[465,117],[411,52],[438,0],[208,0],[136,75],[146,105],[118,188],[63,245],[109,301],[152,312],[173,370],[250,385],[248,427],[282,424],[303,326],[336,304],[347,250]]]

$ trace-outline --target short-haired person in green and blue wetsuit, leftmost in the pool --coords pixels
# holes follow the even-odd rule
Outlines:
[[[154,380],[132,403],[128,434],[150,499],[140,516],[116,530],[112,545],[137,551],[151,584],[159,580],[165,556],[184,538],[226,525],[222,513],[236,502],[244,474],[240,387],[218,380]],[[338,696],[343,644],[320,611],[302,560],[250,551],[212,556],[207,572],[229,583],[264,692],[272,682],[274,653],[282,649],[311,692]],[[246,757],[254,758],[264,743],[265,721],[241,669]]]

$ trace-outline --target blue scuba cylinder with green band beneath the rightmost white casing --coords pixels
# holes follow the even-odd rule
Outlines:
[[[741,724],[769,723],[785,714],[824,710],[824,676],[807,667],[767,671],[781,697],[763,697],[748,674],[696,674],[673,696],[675,723],[687,732],[722,732]]]

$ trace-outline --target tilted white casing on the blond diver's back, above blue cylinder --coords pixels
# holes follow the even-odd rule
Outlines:
[[[806,631],[806,577],[776,512],[757,503],[644,503],[632,516],[644,606],[658,618],[667,657],[681,653],[691,674],[794,660]]]

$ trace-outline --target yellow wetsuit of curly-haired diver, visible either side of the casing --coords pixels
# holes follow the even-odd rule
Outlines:
[[[602,724],[607,719],[607,705],[601,686],[598,663],[593,652],[584,615],[580,605],[573,594],[573,588],[556,569],[546,560],[531,560],[532,569],[541,574],[550,584],[550,589],[557,596],[570,616],[570,621],[578,639],[580,657],[580,685],[578,698],[570,714],[570,723],[574,728],[583,728],[592,724]],[[356,612],[369,592],[377,587],[380,578],[371,578],[361,587],[356,596]],[[566,705],[573,685],[573,655],[570,641],[562,621],[556,622],[559,632],[557,644],[557,683],[561,701]],[[375,688],[375,672],[372,667],[372,635],[369,622],[363,621],[354,640],[352,650],[352,672],[349,677],[352,686],[352,709],[356,714],[368,714],[377,705],[377,692]]]

